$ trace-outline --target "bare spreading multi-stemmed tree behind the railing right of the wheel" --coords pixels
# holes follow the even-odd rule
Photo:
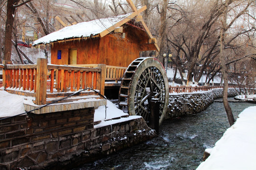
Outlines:
[[[192,0],[192,2],[194,1],[195,0]],[[190,85],[193,79],[195,83],[198,83],[203,73],[205,73],[209,67],[218,69],[218,67],[212,67],[210,64],[214,60],[218,61],[219,58],[219,30],[221,23],[219,17],[224,10],[225,4],[221,3],[221,1],[200,2],[203,4],[201,5],[203,7],[200,8],[195,5],[192,5],[191,8],[185,8],[181,5],[177,6],[178,8],[172,8],[172,10],[178,11],[176,13],[178,15],[169,17],[173,22],[169,26],[170,29],[167,31],[169,33],[168,42],[171,43],[175,51],[181,49],[180,52],[183,53],[183,55],[180,55],[183,56],[183,58],[181,58],[182,62],[180,63],[184,63],[183,67],[188,70],[187,85]],[[247,1],[239,1],[238,4],[235,4],[234,1],[229,2],[233,3],[228,11],[231,17],[236,14],[234,11],[237,10],[237,7],[240,7],[240,11],[238,10],[237,14],[238,17],[232,17],[232,19],[235,18],[233,23],[241,15],[246,15],[243,11],[247,11],[252,1],[245,4],[246,2]],[[188,2],[187,4],[190,3]],[[233,23],[227,26],[227,30],[233,26]],[[251,26],[235,31],[237,31],[237,34],[228,33],[230,36],[225,43],[225,49],[233,49],[232,42],[241,35],[255,31],[255,27]],[[176,63],[179,64],[179,62]]]

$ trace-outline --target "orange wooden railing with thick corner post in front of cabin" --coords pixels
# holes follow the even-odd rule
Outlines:
[[[5,63],[3,86],[12,93],[19,91],[21,95],[35,96],[38,105],[46,104],[47,93],[73,92],[90,87],[104,95],[106,65],[97,66],[82,68],[47,65],[47,59],[37,59],[37,64],[32,65]]]

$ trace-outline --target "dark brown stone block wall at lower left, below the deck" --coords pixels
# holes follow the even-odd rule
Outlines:
[[[94,128],[94,108],[0,121],[0,170],[68,169],[155,136],[143,119]]]

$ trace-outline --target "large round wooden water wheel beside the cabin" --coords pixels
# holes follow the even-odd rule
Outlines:
[[[119,90],[119,106],[127,107],[129,115],[140,115],[150,121],[150,101],[160,100],[159,125],[168,104],[168,80],[165,68],[154,57],[135,59],[126,69]]]

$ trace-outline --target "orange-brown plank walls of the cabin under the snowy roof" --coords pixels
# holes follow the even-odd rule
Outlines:
[[[126,33],[108,34],[102,38],[91,38],[80,41],[55,43],[52,47],[51,63],[68,64],[69,49],[77,49],[77,64],[106,64],[128,67],[139,57],[137,37]],[[57,51],[62,51],[61,59],[57,59]]]

